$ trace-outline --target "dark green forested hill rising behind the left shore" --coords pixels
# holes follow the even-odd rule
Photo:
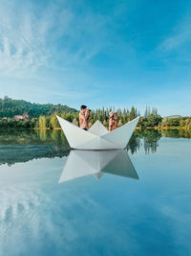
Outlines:
[[[0,99],[0,118],[13,117],[28,112],[30,117],[57,113],[74,113],[77,110],[68,105],[32,104],[23,100],[12,100],[8,96]]]

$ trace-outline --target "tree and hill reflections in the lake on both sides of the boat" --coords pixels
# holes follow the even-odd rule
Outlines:
[[[143,146],[145,153],[156,152],[160,137],[190,138],[191,131],[184,129],[136,130],[128,144],[132,153]],[[7,147],[3,145],[9,145]],[[9,165],[26,162],[34,158],[64,156],[68,154],[69,144],[62,130],[10,129],[0,130],[0,164]]]

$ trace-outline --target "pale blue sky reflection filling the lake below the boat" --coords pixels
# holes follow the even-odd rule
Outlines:
[[[139,180],[58,184],[66,157],[0,166],[0,255],[189,255],[191,141],[130,158]]]

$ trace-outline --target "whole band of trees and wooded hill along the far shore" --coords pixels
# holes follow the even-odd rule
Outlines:
[[[99,120],[106,128],[109,127],[109,112],[117,111],[117,127],[120,127],[136,117],[139,118],[136,129],[184,130],[191,134],[191,117],[169,116],[161,117],[158,109],[146,106],[141,115],[135,106],[115,109],[115,107],[98,108],[91,111],[89,128]],[[12,100],[8,96],[0,99],[0,129],[4,128],[32,128],[32,129],[60,129],[56,115],[78,126],[78,113],[67,105],[40,105],[22,100]]]

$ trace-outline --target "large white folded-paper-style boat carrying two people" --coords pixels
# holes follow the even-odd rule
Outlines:
[[[59,116],[57,119],[72,149],[121,150],[127,146],[139,117],[113,131],[108,131],[98,120],[92,128],[84,130]]]

